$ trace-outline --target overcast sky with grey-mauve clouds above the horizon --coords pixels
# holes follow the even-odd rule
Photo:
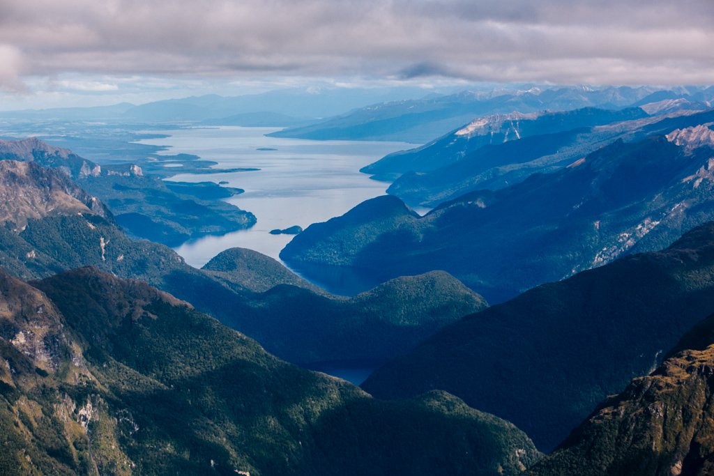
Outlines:
[[[0,0],[0,108],[322,83],[714,83],[712,0]]]

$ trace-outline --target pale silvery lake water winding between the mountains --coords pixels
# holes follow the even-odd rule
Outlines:
[[[186,263],[201,268],[223,250],[240,246],[273,258],[293,237],[271,235],[276,228],[311,223],[340,216],[358,203],[383,195],[388,183],[373,181],[359,172],[388,153],[413,148],[414,144],[368,141],[308,141],[266,137],[278,128],[188,128],[162,131],[168,138],[141,143],[168,146],[166,155],[190,153],[216,161],[215,168],[259,168],[231,173],[180,173],[171,181],[228,182],[245,193],[227,201],[252,212],[256,226],[223,236],[207,236],[184,243],[176,252]],[[263,149],[263,150],[258,150]],[[268,150],[266,150],[268,149]],[[276,149],[276,150],[269,150]]]

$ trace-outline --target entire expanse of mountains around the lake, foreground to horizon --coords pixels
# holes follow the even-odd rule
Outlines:
[[[314,92],[305,117],[381,94]],[[305,91],[6,113],[446,135],[363,168],[390,195],[296,235],[281,258],[299,276],[165,245],[250,226],[220,202],[238,189],[0,141],[0,473],[710,474],[713,94],[433,94],[326,121],[287,113]],[[365,291],[313,284],[346,277]],[[378,368],[361,388],[306,370],[330,365]]]

